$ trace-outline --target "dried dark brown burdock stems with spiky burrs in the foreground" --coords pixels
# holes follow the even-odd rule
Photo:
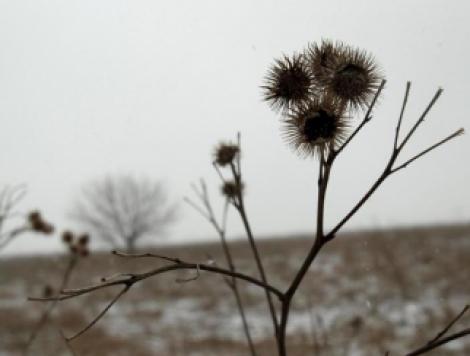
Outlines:
[[[362,197],[350,207],[349,211],[343,217],[337,219],[333,228],[327,230],[324,226],[324,207],[333,165],[349,143],[372,120],[372,111],[384,89],[385,80],[381,79],[381,75],[377,70],[378,66],[375,64],[371,55],[341,42],[333,43],[331,41],[323,41],[320,45],[311,44],[307,50],[301,53],[302,54],[295,54],[292,57],[284,56],[283,59],[276,60],[269,70],[266,83],[263,86],[266,101],[269,102],[276,112],[281,112],[281,122],[284,128],[283,134],[288,144],[301,155],[313,158],[312,161],[318,164],[318,194],[315,197],[317,204],[316,230],[307,256],[302,261],[299,261],[297,272],[288,285],[277,287],[269,282],[261,255],[258,251],[245,206],[243,194],[244,183],[240,159],[241,145],[240,135],[238,135],[236,145],[222,143],[216,148],[213,165],[222,181],[222,193],[225,199],[224,214],[226,214],[229,204],[238,213],[245,228],[259,278],[240,273],[235,269],[234,261],[225,239],[225,222],[223,222],[222,225],[217,223],[207,197],[207,189],[205,185],[202,184],[201,190],[195,189],[197,196],[202,202],[202,207],[193,203],[191,200],[188,200],[188,202],[198,210],[219,233],[225,250],[228,268],[223,268],[212,263],[188,262],[178,258],[150,253],[126,254],[115,252],[116,256],[123,258],[156,258],[166,261],[168,264],[147,272],[114,275],[109,278],[104,278],[100,284],[86,288],[62,290],[60,294],[55,297],[30,298],[31,300],[59,301],[92,293],[103,288],[113,286],[122,287],[103,311],[81,331],[70,337],[69,340],[78,337],[93,326],[134,284],[147,278],[175,270],[193,270],[196,271],[198,275],[202,272],[221,275],[226,278],[230,286],[237,285],[236,281],[245,281],[264,290],[267,311],[272,320],[273,335],[276,341],[278,355],[288,355],[286,331],[292,301],[296,296],[299,286],[304,281],[307,271],[310,269],[320,251],[325,245],[335,239],[338,231],[357,213],[390,176],[398,173],[417,159],[463,133],[463,129],[456,130],[448,136],[436,141],[434,144],[431,144],[428,148],[409,158],[405,158],[403,161],[399,161],[399,159],[402,158],[404,148],[408,146],[411,138],[422,125],[431,108],[442,94],[442,89],[438,89],[423,113],[411,126],[411,129],[402,133],[402,121],[411,88],[411,83],[408,82],[406,84],[403,104],[399,112],[394,135],[390,142],[391,153],[385,160],[383,171],[369,189],[363,193]],[[359,114],[359,109],[364,109],[365,113],[362,116],[362,120],[355,123],[352,116]],[[225,221],[225,219],[226,215],[223,221]],[[192,280],[194,280],[194,278],[192,278]],[[237,293],[240,293],[238,287],[235,294]],[[237,296],[236,298],[238,300]],[[241,315],[244,315],[244,309],[243,307],[240,308],[240,305],[239,311]],[[466,309],[461,315],[463,315],[465,311]],[[457,319],[460,318],[461,315],[458,316]],[[444,336],[454,323],[453,321],[445,327],[445,329],[427,345],[409,353],[409,355],[424,354],[447,342],[470,334],[470,328],[467,328],[455,334]],[[248,325],[245,323],[244,327],[251,353],[254,354],[256,351],[250,341]]]

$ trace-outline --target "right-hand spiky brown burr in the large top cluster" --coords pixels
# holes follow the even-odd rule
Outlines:
[[[382,76],[370,54],[347,47],[337,58],[325,89],[351,109],[361,109],[370,104],[381,79]]]

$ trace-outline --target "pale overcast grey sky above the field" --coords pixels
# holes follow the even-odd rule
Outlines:
[[[0,0],[0,184],[26,183],[62,229],[81,186],[105,174],[163,179],[174,200],[204,177],[211,152],[241,131],[257,234],[312,231],[317,164],[284,144],[262,102],[275,57],[322,38],[374,54],[388,83],[373,122],[333,172],[327,224],[367,189],[390,152],[405,82],[405,128],[444,94],[405,154],[470,129],[467,1]],[[468,221],[468,134],[387,181],[348,225]],[[231,217],[232,235],[241,232]],[[189,207],[168,239],[213,236]],[[58,248],[25,236],[8,251]]]

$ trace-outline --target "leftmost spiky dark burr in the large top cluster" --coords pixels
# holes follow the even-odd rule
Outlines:
[[[264,100],[274,110],[289,110],[313,95],[312,75],[303,54],[294,54],[290,58],[284,55],[275,60],[265,82],[262,86]]]

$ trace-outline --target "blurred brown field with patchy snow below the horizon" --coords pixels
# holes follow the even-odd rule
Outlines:
[[[310,238],[259,241],[269,280],[285,288]],[[255,274],[248,245],[231,244],[237,268]],[[158,253],[225,265],[220,246],[164,247]],[[57,285],[66,256],[0,257],[0,355],[24,354],[45,304],[27,302]],[[162,265],[95,254],[73,271],[70,287],[118,272]],[[470,303],[470,226],[357,232],[338,236],[309,271],[293,305],[290,355],[403,355],[431,339]],[[248,355],[235,301],[219,276],[176,283],[171,272],[136,285],[90,331],[71,343],[75,355]],[[264,294],[241,283],[260,355],[275,355]],[[29,355],[71,355],[60,335],[86,325],[117,290],[61,302],[29,348]],[[470,313],[469,313],[470,314]],[[467,315],[453,331],[470,326]],[[429,355],[470,355],[470,337]]]

